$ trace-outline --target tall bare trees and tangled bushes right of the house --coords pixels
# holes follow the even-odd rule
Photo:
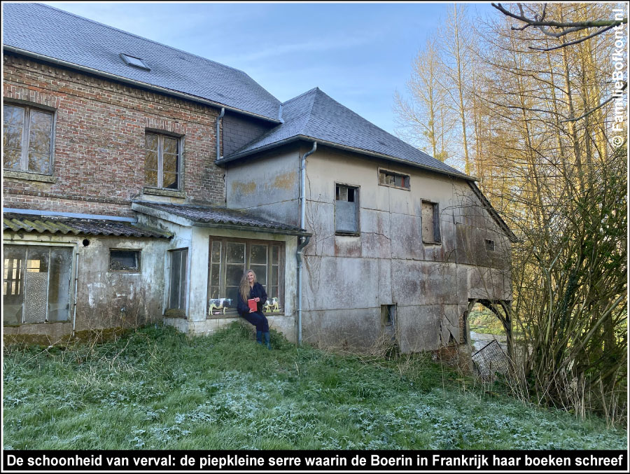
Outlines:
[[[626,8],[505,8],[484,18],[450,7],[416,60],[410,102],[397,98],[401,132],[477,176],[519,239],[505,256],[526,349],[514,393],[623,423],[627,25],[598,34],[584,25],[627,23]],[[528,27],[528,18],[554,27]]]

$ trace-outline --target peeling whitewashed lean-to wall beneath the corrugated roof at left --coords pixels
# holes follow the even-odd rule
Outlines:
[[[137,326],[162,319],[163,256],[169,245],[167,239],[38,235],[28,232],[4,232],[3,237],[5,245],[70,246],[73,256],[68,321],[4,326],[4,335],[45,335],[51,343],[67,338],[72,333],[75,298],[77,333]],[[89,244],[85,245],[86,241]],[[110,272],[109,249],[139,249],[140,272]]]

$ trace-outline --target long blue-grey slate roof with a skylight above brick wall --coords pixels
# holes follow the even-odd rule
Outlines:
[[[3,44],[279,121],[280,101],[239,69],[41,4],[3,3]],[[151,71],[125,64],[141,58]]]

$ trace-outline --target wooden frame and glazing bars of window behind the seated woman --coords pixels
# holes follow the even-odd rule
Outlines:
[[[227,244],[228,243],[239,243],[239,244],[245,244],[245,264],[244,264],[244,270],[251,268],[251,245],[267,245],[268,246],[268,250],[267,250],[267,284],[265,284],[265,291],[267,291],[267,295],[270,295],[270,290],[269,290],[269,281],[271,279],[271,270],[272,270],[272,266],[273,264],[269,263],[269,248],[271,246],[278,246],[279,247],[279,258],[278,258],[278,300],[279,300],[279,307],[280,307],[280,311],[279,312],[275,312],[273,315],[274,316],[281,316],[284,314],[284,307],[285,307],[285,281],[284,281],[284,276],[285,276],[285,272],[284,272],[284,267],[285,267],[285,242],[283,241],[279,241],[279,240],[260,240],[260,239],[240,239],[237,237],[216,237],[216,236],[210,236],[209,237],[209,245],[208,245],[208,281],[207,281],[207,293],[206,293],[206,317],[207,318],[223,318],[226,316],[238,316],[238,312],[236,309],[236,305],[237,302],[232,302],[232,307],[230,309],[226,309],[225,314],[223,313],[223,311],[216,311],[219,314],[209,314],[210,312],[210,294],[211,294],[211,265],[212,265],[212,244],[214,242],[221,242],[221,254],[220,254],[220,262],[219,262],[219,294],[220,295],[225,295],[226,294],[226,290],[225,287],[227,286],[226,283],[226,278],[227,278],[227,258],[228,258],[228,254],[226,251],[227,248]],[[271,297],[269,297],[269,300],[271,300]]]

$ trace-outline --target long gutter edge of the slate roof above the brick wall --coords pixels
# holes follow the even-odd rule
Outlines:
[[[2,47],[3,47],[3,49],[9,51],[10,53],[15,53],[15,54],[18,54],[18,55],[25,55],[25,56],[32,57],[32,58],[34,58],[36,60],[40,60],[40,61],[52,62],[52,64],[57,64],[57,65],[62,66],[62,67],[69,67],[71,69],[77,69],[78,71],[86,72],[88,74],[95,74],[97,76],[102,76],[104,78],[108,78],[108,79],[111,79],[113,81],[119,81],[119,82],[123,82],[123,83],[134,85],[136,87],[150,89],[150,90],[153,90],[155,92],[160,92],[162,94],[174,95],[175,97],[179,97],[180,99],[187,99],[187,100],[191,100],[193,102],[200,102],[201,104],[210,105],[210,106],[213,106],[213,107],[218,107],[219,109],[225,108],[225,110],[229,110],[229,111],[233,111],[233,112],[237,112],[237,113],[243,113],[246,116],[259,118],[261,120],[266,120],[267,122],[271,122],[271,123],[277,123],[277,124],[282,123],[277,118],[270,118],[270,117],[267,117],[267,116],[261,116],[258,113],[253,113],[253,112],[244,111],[242,109],[237,109],[236,107],[231,107],[231,106],[228,106],[228,105],[225,105],[225,104],[221,104],[221,102],[214,102],[214,101],[211,101],[209,99],[203,99],[202,97],[198,97],[196,95],[186,94],[186,92],[179,92],[178,90],[162,88],[159,85],[153,85],[153,84],[149,84],[149,83],[143,83],[141,81],[135,81],[134,79],[126,78],[126,77],[123,77],[123,76],[118,76],[116,74],[111,74],[111,73],[105,72],[105,71],[99,71],[98,69],[93,69],[93,68],[87,67],[87,66],[81,66],[80,64],[75,64],[73,62],[67,62],[67,61],[64,61],[64,60],[58,60],[56,57],[40,55],[38,53],[33,53],[32,51],[23,50],[21,48],[15,48],[15,46],[3,45]]]

